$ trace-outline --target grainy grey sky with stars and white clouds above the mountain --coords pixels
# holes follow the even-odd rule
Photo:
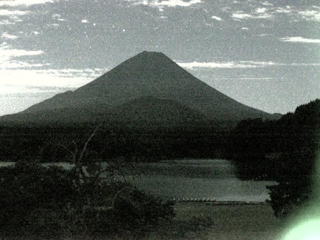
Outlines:
[[[246,105],[320,98],[317,0],[0,0],[0,115],[160,51]]]

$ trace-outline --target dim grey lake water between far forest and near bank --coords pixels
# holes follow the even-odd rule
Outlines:
[[[13,164],[0,162],[0,166]],[[65,162],[44,163],[71,167]],[[275,181],[240,180],[234,165],[224,159],[176,159],[131,163],[124,178],[139,189],[168,198],[210,198],[217,201],[264,201],[269,199],[266,185]]]

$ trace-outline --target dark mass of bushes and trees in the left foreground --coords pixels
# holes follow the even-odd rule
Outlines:
[[[77,167],[26,161],[1,167],[1,234],[141,236],[158,220],[173,217],[171,202],[116,180],[113,167],[104,177],[97,163],[82,169],[85,178]]]

